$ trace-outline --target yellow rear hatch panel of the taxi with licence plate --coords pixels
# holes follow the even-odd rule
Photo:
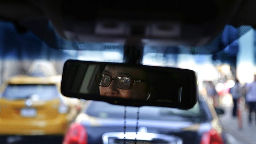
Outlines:
[[[54,119],[58,115],[59,99],[49,101],[0,99],[0,118],[3,119]]]

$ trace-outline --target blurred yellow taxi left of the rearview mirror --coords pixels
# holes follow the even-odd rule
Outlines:
[[[63,135],[79,100],[64,97],[61,75],[16,75],[1,85],[0,135]]]

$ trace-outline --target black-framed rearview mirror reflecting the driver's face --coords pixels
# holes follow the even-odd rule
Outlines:
[[[192,70],[67,60],[61,92],[68,97],[116,105],[188,109],[197,102],[198,87]]]

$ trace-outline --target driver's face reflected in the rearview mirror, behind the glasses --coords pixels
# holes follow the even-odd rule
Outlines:
[[[127,68],[120,66],[106,66],[102,72],[103,74],[110,75],[112,79],[117,76],[128,76],[133,79],[143,80],[145,79],[145,73],[142,69],[138,68]],[[123,98],[135,98],[145,100],[148,97],[146,92],[145,82],[135,82],[129,89],[119,89],[112,80],[111,84],[107,87],[100,86],[100,95],[104,96],[116,96]]]

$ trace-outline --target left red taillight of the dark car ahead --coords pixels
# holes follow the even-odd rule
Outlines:
[[[72,123],[65,134],[63,144],[87,144],[86,128],[79,123]]]

